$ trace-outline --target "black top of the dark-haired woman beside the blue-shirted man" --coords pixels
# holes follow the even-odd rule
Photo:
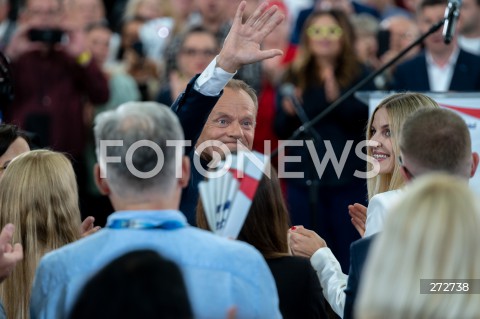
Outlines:
[[[327,318],[322,288],[309,259],[285,256],[266,261],[275,278],[284,319]]]

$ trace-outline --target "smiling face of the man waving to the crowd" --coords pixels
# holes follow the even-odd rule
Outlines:
[[[238,141],[252,149],[256,113],[255,104],[245,91],[225,88],[205,123],[197,147],[203,142],[220,141],[230,151],[235,151]],[[205,151],[211,155],[213,147],[209,146]]]

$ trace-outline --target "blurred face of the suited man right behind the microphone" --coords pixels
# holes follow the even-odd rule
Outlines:
[[[444,4],[423,8],[419,16],[420,31],[426,33],[432,25],[443,19],[445,8]],[[425,39],[425,46],[433,54],[442,54],[450,50],[450,47],[443,42],[442,28]]]

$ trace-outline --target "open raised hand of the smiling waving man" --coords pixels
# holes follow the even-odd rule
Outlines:
[[[277,6],[267,9],[268,3],[263,2],[247,21],[242,23],[246,4],[242,1],[238,6],[232,28],[217,58],[217,66],[230,73],[236,72],[245,64],[283,54],[279,49],[262,50],[260,45],[285,16],[278,11]]]

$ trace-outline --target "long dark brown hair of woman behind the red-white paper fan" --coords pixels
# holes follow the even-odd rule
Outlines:
[[[265,258],[288,255],[287,233],[290,217],[282,196],[276,170],[271,178],[263,176],[258,184],[252,206],[238,236],[239,240],[255,247]],[[197,206],[197,225],[210,230],[202,202]]]

